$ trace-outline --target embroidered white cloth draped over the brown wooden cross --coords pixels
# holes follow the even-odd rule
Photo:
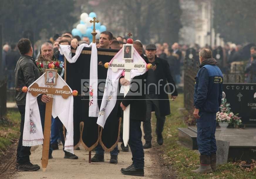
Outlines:
[[[55,88],[62,88],[67,85],[60,75],[58,75],[57,80],[57,85],[54,86]],[[31,85],[34,83],[37,83],[39,87],[47,87],[47,85],[45,85],[45,73]],[[30,89],[31,85],[28,89]],[[39,95],[40,94],[38,94],[38,96]],[[74,153],[73,96],[70,95],[67,99],[64,99],[61,95],[53,95],[52,116],[53,118],[58,116],[67,129],[64,150]],[[27,92],[22,145],[36,146],[40,144],[43,144],[43,130],[37,104],[37,97],[34,97],[30,92]]]

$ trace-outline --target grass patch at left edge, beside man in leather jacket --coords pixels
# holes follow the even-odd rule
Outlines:
[[[13,144],[20,135],[20,113],[17,110],[9,110],[0,121],[0,155],[3,155],[8,147]]]

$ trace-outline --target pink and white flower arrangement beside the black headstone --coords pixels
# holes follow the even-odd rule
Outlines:
[[[220,111],[216,113],[216,121],[219,123],[220,127],[223,124],[225,124],[225,127],[227,127],[228,124],[242,124],[241,117],[238,117],[238,114],[234,114],[230,110],[230,104],[227,103],[227,99],[223,98],[221,100]]]

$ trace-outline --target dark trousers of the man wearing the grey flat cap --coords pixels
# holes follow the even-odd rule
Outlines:
[[[165,116],[160,114],[159,100],[156,94],[146,94],[146,121],[143,122],[144,139],[146,142],[152,140],[151,112],[155,109],[156,115],[156,134],[162,134],[164,130]]]

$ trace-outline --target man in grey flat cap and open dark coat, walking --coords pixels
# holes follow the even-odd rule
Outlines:
[[[171,113],[168,94],[171,94],[171,98],[174,100],[178,96],[178,92],[168,62],[156,57],[156,45],[148,44],[146,46],[146,56],[149,63],[153,66],[156,65],[156,70],[148,71],[146,80],[146,121],[143,122],[144,139],[146,141],[143,148],[151,148],[151,112],[155,111],[156,115],[157,143],[162,145],[164,142],[162,132],[165,116]]]

